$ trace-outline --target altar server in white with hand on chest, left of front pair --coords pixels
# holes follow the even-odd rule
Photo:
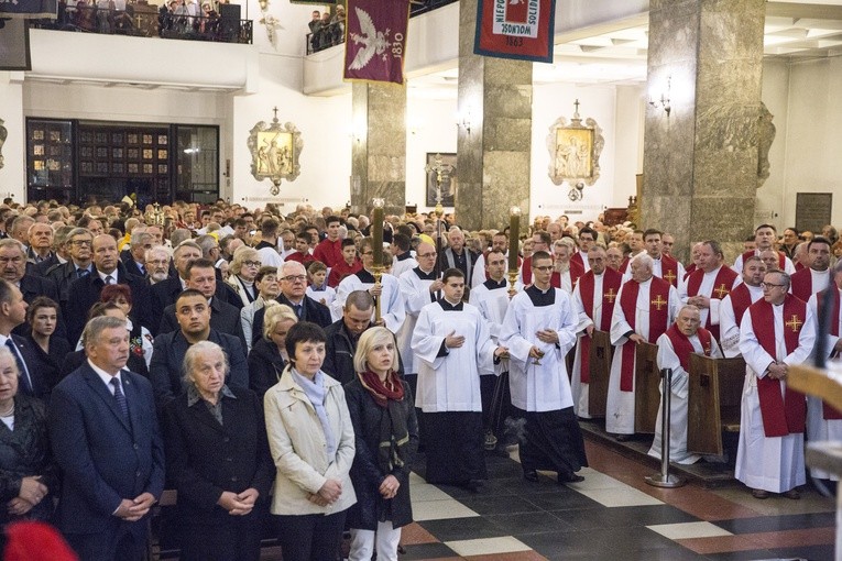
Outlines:
[[[506,352],[475,306],[462,302],[464,273],[445,271],[444,297],[418,316],[412,348],[418,360],[416,407],[424,416],[428,483],[471,491],[485,480],[480,375]]]

